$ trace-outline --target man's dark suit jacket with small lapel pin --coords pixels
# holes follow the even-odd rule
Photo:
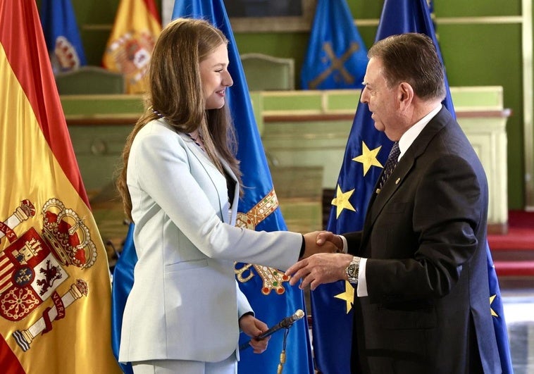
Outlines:
[[[349,253],[368,258],[354,298],[354,373],[501,373],[486,258],[488,182],[445,109],[369,203]],[[479,354],[480,352],[480,354]],[[480,359],[481,358],[481,359]]]

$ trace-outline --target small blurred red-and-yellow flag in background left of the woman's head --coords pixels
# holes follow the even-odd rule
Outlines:
[[[161,32],[154,0],[121,0],[102,58],[104,68],[123,73],[128,94],[146,90],[145,75]]]

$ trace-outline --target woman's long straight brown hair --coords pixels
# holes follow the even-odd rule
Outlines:
[[[241,185],[237,142],[227,106],[206,110],[199,63],[228,39],[205,20],[178,18],[161,32],[154,46],[149,68],[149,92],[145,112],[137,120],[123,149],[123,167],[117,188],[126,216],[132,220],[132,199],[126,183],[128,158],[137,132],[151,120],[163,116],[177,132],[199,133],[213,164],[223,172],[223,158]]]

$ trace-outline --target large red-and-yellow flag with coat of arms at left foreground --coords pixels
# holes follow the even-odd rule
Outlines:
[[[0,371],[120,373],[111,282],[34,0],[0,0]]]

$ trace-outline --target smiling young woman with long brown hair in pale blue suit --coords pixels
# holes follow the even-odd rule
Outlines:
[[[119,360],[135,373],[235,373],[240,329],[255,337],[267,326],[237,287],[234,261],[286,269],[319,250],[316,232],[235,227],[242,186],[225,106],[227,44],[204,20],[165,27],[147,111],[125,144],[118,188],[138,262]],[[251,344],[256,353],[267,347]]]

